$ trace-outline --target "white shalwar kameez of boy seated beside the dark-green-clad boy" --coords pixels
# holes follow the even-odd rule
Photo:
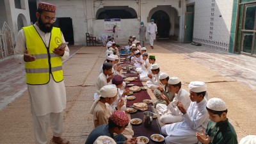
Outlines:
[[[198,143],[196,132],[205,131],[209,122],[209,114],[206,110],[207,101],[203,99],[200,103],[191,102],[186,114],[182,115],[183,121],[167,124],[161,127],[161,132],[166,134],[166,144],[188,144]]]

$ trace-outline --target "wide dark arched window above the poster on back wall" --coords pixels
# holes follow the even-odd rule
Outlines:
[[[97,20],[108,18],[137,18],[137,13],[128,6],[104,6],[97,11]]]

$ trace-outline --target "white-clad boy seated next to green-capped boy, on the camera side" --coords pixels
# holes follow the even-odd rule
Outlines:
[[[150,81],[147,81],[147,86],[152,89],[152,90],[155,90],[157,89],[157,87],[161,86],[163,87],[163,85],[161,85],[161,82],[159,80],[159,76],[161,75],[161,71],[160,71],[160,68],[158,66],[158,64],[152,64],[151,66],[151,71],[152,71],[152,74],[148,74],[148,78],[150,78]]]

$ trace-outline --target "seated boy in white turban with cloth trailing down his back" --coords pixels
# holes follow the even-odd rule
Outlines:
[[[116,85],[105,85],[100,89],[100,96],[95,99],[90,109],[90,114],[93,115],[94,127],[108,124],[108,118],[112,113],[110,104],[116,100],[116,96]]]

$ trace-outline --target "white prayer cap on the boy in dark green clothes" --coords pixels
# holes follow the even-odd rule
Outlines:
[[[216,97],[209,99],[209,101],[207,101],[206,107],[215,111],[227,110],[225,102],[222,99]]]

